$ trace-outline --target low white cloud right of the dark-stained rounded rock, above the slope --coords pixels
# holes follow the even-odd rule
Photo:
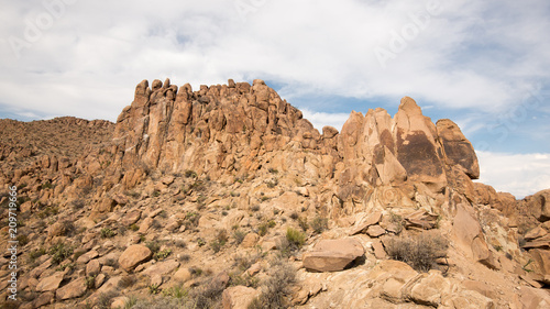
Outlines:
[[[550,188],[550,154],[505,154],[477,151],[480,183],[524,198]]]

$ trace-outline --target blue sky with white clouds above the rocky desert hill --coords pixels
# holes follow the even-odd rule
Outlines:
[[[318,129],[413,97],[481,181],[550,188],[546,0],[2,0],[0,118],[114,121],[142,79],[264,79]]]

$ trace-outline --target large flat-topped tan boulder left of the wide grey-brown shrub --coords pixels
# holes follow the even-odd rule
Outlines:
[[[354,239],[321,240],[304,255],[304,267],[314,272],[339,272],[364,253],[363,245]]]

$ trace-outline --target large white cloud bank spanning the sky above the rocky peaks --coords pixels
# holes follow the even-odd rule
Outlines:
[[[235,3],[249,11],[240,14]],[[24,37],[26,21],[47,10],[10,2],[0,30],[0,102],[112,120],[141,79],[177,75],[173,81],[179,85],[268,77],[288,84],[289,97],[387,97],[397,103],[408,95],[446,108],[492,111],[548,79],[544,1],[440,1],[435,15],[427,3],[76,1],[15,59],[7,42]],[[391,49],[392,33],[404,36],[411,14],[429,22],[384,69],[374,51]],[[26,87],[37,91],[25,93]]]

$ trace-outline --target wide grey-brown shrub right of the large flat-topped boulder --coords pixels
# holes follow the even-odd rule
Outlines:
[[[384,242],[388,256],[409,264],[418,272],[437,268],[437,260],[447,257],[449,241],[436,231],[413,236],[394,236]]]

